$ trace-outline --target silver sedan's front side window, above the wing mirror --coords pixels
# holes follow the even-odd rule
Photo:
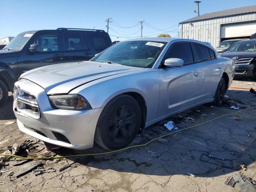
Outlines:
[[[184,64],[193,63],[193,54],[190,43],[178,43],[174,44],[169,50],[165,59],[168,58],[179,58],[184,61]]]

